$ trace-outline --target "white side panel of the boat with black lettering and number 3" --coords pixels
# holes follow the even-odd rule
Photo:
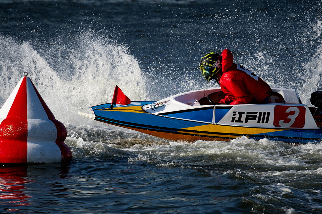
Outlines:
[[[257,128],[318,129],[310,110],[299,104],[218,105],[215,123]]]

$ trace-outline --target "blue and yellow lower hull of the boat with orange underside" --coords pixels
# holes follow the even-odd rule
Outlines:
[[[256,140],[267,138],[270,140],[308,143],[319,142],[322,138],[320,130],[238,127],[158,116],[143,111],[141,105],[146,105],[146,103],[142,102],[136,106],[119,106],[113,110],[100,105],[101,108],[94,110],[95,120],[170,140],[229,141],[245,135]],[[95,107],[92,108],[95,109]]]

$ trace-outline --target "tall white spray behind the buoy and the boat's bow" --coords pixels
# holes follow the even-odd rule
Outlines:
[[[41,56],[31,44],[0,35],[0,104],[24,72],[64,124],[88,123],[78,110],[110,102],[115,85],[131,100],[146,99],[145,78],[127,47],[109,44],[91,32],[74,41],[69,47],[58,43],[41,50],[46,55]]]

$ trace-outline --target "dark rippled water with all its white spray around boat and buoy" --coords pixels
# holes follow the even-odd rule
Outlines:
[[[79,116],[217,86],[209,51],[271,87],[321,86],[319,1],[0,1],[0,103],[24,71],[67,128],[68,163],[0,168],[1,213],[321,213],[322,144],[169,141]]]

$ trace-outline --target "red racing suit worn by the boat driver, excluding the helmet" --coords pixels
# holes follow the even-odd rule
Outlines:
[[[220,104],[256,104],[270,95],[272,90],[266,82],[242,65],[232,63],[230,50],[223,50],[221,56],[223,75],[219,84],[226,97]]]

